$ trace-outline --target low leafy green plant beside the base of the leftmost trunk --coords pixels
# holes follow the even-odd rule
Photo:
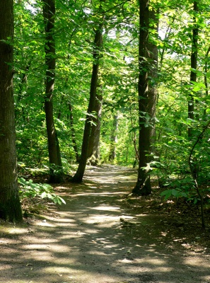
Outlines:
[[[33,180],[25,180],[24,178],[18,178],[19,193],[20,197],[40,197],[42,199],[48,198],[52,200],[55,204],[66,204],[62,197],[54,193],[54,189],[49,184],[33,183]]]

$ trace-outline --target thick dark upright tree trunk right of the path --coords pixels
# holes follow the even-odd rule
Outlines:
[[[149,1],[140,0],[139,4],[139,169],[138,180],[132,192],[136,195],[149,195],[151,193],[149,164],[152,160],[155,137],[158,50],[149,40],[148,30],[150,28],[157,32],[158,25],[155,11],[149,9]]]

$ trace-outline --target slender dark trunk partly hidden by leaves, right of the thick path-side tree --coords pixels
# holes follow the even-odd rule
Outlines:
[[[197,1],[193,2],[194,11],[194,26],[192,28],[192,51],[191,51],[191,71],[190,71],[190,83],[196,82],[197,74],[194,70],[197,69],[197,43],[198,43],[198,25],[196,13],[199,11]],[[194,120],[194,97],[193,93],[189,93],[188,101],[188,118]],[[192,127],[188,129],[188,137],[192,137]]]

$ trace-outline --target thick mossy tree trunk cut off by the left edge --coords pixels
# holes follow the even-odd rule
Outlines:
[[[22,221],[13,100],[13,0],[0,1],[0,217]],[[8,38],[11,42],[7,42]],[[5,41],[4,41],[5,40]]]

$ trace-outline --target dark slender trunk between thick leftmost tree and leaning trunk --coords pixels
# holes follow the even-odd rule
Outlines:
[[[43,0],[43,15],[45,21],[45,64],[47,67],[45,81],[45,115],[47,125],[47,139],[49,152],[49,182],[61,183],[63,179],[62,158],[59,149],[59,140],[54,125],[53,91],[55,71],[55,42],[54,42],[54,0]]]

